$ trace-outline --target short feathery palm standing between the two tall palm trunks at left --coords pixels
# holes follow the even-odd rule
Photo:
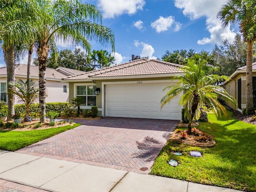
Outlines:
[[[39,88],[37,87],[36,82],[28,78],[26,82],[23,82],[20,79],[17,83],[10,81],[9,84],[11,88],[8,91],[17,95],[20,98],[19,102],[26,105],[26,116],[24,121],[28,121],[28,117],[30,116],[30,105],[38,100]]]

